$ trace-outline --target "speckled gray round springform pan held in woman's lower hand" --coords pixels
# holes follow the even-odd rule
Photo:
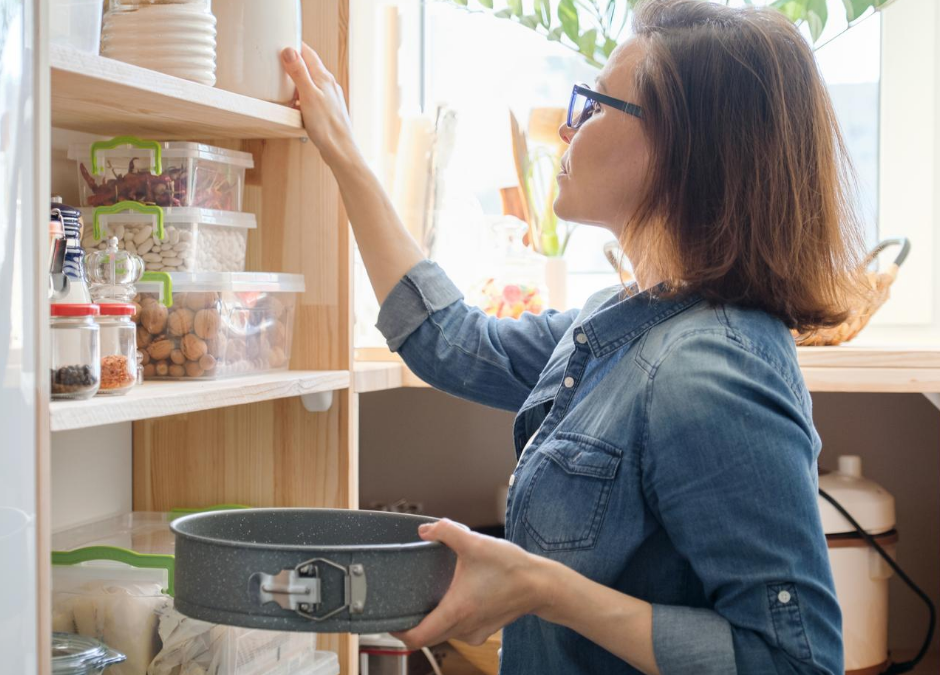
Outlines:
[[[176,534],[176,609],[194,619],[268,630],[406,630],[437,606],[454,574],[453,551],[418,537],[418,525],[434,520],[334,509],[185,516],[171,525]],[[275,602],[262,604],[259,588],[271,586],[264,575],[293,570],[314,558],[344,568],[362,566],[366,594],[360,613],[347,607],[316,622]],[[322,616],[346,601],[346,575],[325,563],[317,563],[317,570],[322,597],[313,613]]]

